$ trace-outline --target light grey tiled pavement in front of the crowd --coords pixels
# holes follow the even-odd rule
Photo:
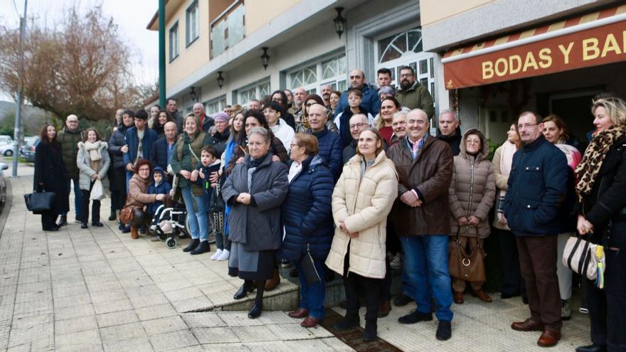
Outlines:
[[[9,182],[13,203],[0,213],[0,351],[351,351],[329,331],[304,329],[284,311],[250,320],[246,311],[220,310],[240,284],[226,274],[226,262],[131,240],[112,222],[112,228],[80,230],[71,223],[43,233],[39,216],[21,200],[32,178]],[[274,294],[295,289],[286,280],[280,287]],[[482,304],[467,297],[453,306],[446,342],[434,338],[436,321],[398,324],[411,308],[394,306],[378,321],[379,336],[404,351],[542,350],[535,344],[539,333],[509,328],[528,315],[519,299]],[[587,339],[587,317],[576,312],[550,351],[573,351]]]

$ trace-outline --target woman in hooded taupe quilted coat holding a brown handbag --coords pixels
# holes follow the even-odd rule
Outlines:
[[[489,210],[494,205],[496,184],[489,143],[482,132],[470,129],[460,144],[461,152],[455,156],[455,172],[450,183],[450,240],[459,240],[467,253],[482,247],[489,235]],[[472,294],[483,302],[492,302],[483,290],[484,282],[470,282]],[[463,303],[465,280],[452,278],[454,302]]]

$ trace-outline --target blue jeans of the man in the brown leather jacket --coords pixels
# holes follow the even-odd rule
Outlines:
[[[448,272],[447,235],[411,235],[400,237],[409,281],[415,287],[418,311],[432,311],[430,298],[435,297],[437,319],[452,321],[452,287]]]

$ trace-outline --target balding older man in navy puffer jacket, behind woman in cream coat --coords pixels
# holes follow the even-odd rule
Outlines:
[[[311,129],[307,133],[313,134],[317,138],[317,146],[319,148],[317,155],[326,160],[336,182],[339,179],[339,174],[341,174],[341,169],[344,167],[344,163],[341,160],[343,148],[341,147],[339,134],[330,132],[326,128],[327,120],[326,107],[319,104],[309,107],[309,124],[311,124]]]

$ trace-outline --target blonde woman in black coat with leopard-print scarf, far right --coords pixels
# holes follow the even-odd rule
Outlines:
[[[626,103],[599,99],[591,112],[598,130],[575,169],[574,211],[580,235],[604,246],[606,270],[603,288],[583,278],[593,345],[576,351],[626,351]]]

